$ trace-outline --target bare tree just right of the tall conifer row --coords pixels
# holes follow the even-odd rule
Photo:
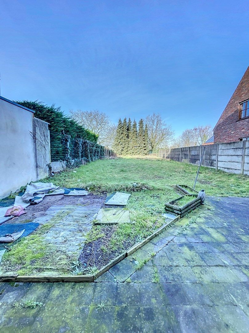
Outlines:
[[[148,127],[149,148],[157,149],[168,146],[172,140],[174,131],[166,124],[160,114],[147,116],[145,124]]]

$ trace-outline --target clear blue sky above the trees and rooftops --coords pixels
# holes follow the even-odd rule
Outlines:
[[[1,1],[1,94],[214,126],[249,65],[248,1]]]

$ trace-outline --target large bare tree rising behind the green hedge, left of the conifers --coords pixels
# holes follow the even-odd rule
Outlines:
[[[98,143],[104,144],[109,130],[110,118],[98,110],[82,111],[69,110],[71,118],[87,130],[98,135]]]

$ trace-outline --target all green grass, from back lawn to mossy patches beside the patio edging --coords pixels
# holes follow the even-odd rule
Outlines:
[[[76,172],[72,172],[76,171]],[[125,246],[149,236],[163,223],[164,203],[179,197],[175,184],[193,186],[197,166],[156,158],[131,158],[98,160],[74,170],[65,171],[43,181],[63,187],[88,187],[92,191],[110,193],[130,192],[126,209],[130,211],[132,224],[118,225],[112,233],[106,251],[122,252]],[[207,195],[247,196],[249,178],[220,170],[201,167],[195,189],[204,188]],[[190,201],[190,197],[187,201]],[[183,202],[179,202],[183,205]],[[55,221],[56,223],[56,221]],[[25,237],[4,254],[1,265],[8,271],[29,274],[53,266],[57,271],[68,273],[68,258],[45,246],[43,234],[51,224],[44,225],[34,234]],[[103,237],[102,227],[94,225],[86,235],[86,242]],[[128,244],[128,245],[127,245]],[[140,263],[143,265],[144,263]],[[155,273],[155,282],[157,280]]]

